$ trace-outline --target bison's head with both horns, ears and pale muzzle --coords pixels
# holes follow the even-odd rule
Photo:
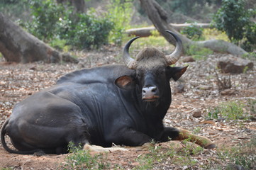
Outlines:
[[[173,78],[176,81],[187,69],[187,67],[169,67],[179,60],[182,41],[171,31],[166,31],[177,42],[171,55],[165,55],[154,47],[150,47],[140,51],[133,59],[129,55],[129,47],[139,37],[129,40],[123,50],[123,60],[129,69],[135,70],[135,75],[119,77],[116,79],[116,85],[122,89],[130,89],[138,85],[143,101],[159,101],[162,96],[170,98],[169,79]],[[165,95],[168,93],[169,95]]]

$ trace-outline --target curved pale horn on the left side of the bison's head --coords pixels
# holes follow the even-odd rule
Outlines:
[[[127,65],[127,67],[129,69],[135,69],[135,60],[132,57],[130,57],[129,48],[130,48],[131,43],[134,40],[136,40],[137,38],[140,38],[140,37],[135,37],[135,38],[130,39],[126,43],[126,45],[123,47],[123,62]]]

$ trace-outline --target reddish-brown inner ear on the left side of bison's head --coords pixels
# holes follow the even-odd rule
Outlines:
[[[130,90],[135,87],[135,80],[130,76],[122,76],[116,79],[115,84],[121,89]]]

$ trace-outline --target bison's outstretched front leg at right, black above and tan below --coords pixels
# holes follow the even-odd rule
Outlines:
[[[200,145],[206,149],[213,149],[216,147],[208,138],[199,135],[193,135],[188,130],[183,130],[180,128],[165,128],[162,135],[162,142],[167,142],[169,139],[189,140],[190,142],[195,142],[197,145]]]

